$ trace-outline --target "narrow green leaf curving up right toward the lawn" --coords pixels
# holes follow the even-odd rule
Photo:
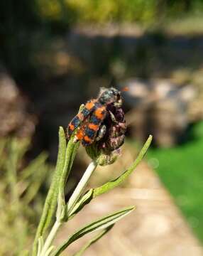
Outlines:
[[[104,185],[99,186],[98,188],[94,188],[93,198],[101,195],[102,193],[111,191],[111,189],[115,188],[116,186],[119,186],[124,180],[126,180],[126,178],[128,178],[128,176],[134,171],[134,169],[136,169],[138,164],[141,162],[141,160],[145,156],[146,151],[148,150],[148,147],[150,146],[150,143],[152,142],[152,138],[153,138],[152,135],[150,135],[148,137],[146,143],[144,144],[143,148],[141,149],[140,153],[138,154],[138,157],[133,162],[133,164],[131,164],[131,166],[128,168],[128,170],[124,171],[124,173],[121,174],[121,176],[119,176],[118,178],[115,178],[113,181],[109,181],[109,182],[105,183]]]

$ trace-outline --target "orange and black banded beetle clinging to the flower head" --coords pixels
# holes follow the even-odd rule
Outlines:
[[[89,146],[95,141],[102,139],[106,133],[106,126],[102,124],[108,115],[112,122],[116,118],[111,112],[112,106],[121,108],[123,100],[121,92],[114,87],[101,87],[97,99],[87,101],[84,108],[71,120],[67,127],[67,139],[77,129],[74,142],[81,141],[83,146]]]

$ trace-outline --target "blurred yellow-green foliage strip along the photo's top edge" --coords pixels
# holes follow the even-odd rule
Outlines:
[[[43,0],[40,16],[68,23],[158,22],[159,17],[180,17],[203,9],[201,0]]]

